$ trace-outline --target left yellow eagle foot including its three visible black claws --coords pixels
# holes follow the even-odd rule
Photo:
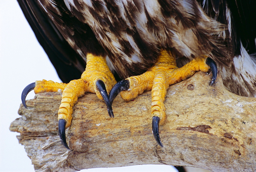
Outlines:
[[[104,100],[107,105],[110,117],[114,117],[108,92],[110,92],[115,83],[114,75],[109,70],[105,58],[88,54],[86,70],[82,73],[80,79],[72,80],[68,84],[46,80],[31,83],[22,92],[22,102],[26,107],[26,95],[33,89],[35,93],[61,90],[62,98],[58,111],[59,135],[62,144],[69,149],[66,142],[65,128],[71,125],[73,106],[78,97],[83,96],[86,92],[96,93],[97,97],[100,100]]]

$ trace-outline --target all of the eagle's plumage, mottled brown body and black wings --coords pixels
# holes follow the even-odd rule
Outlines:
[[[107,55],[110,68],[124,79],[145,72],[163,48],[178,66],[196,56],[211,57],[229,90],[256,97],[256,65],[248,54],[255,53],[253,1],[18,2],[64,82],[79,77],[87,53]],[[63,71],[61,63],[70,70]],[[63,75],[73,70],[74,78]]]

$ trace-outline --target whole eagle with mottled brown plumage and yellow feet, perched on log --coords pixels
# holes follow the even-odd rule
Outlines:
[[[123,92],[125,100],[131,100],[152,89],[152,128],[160,146],[163,145],[158,123],[161,120],[164,123],[165,119],[162,105],[165,92],[161,92],[167,89],[162,85],[168,87],[198,70],[208,71],[209,65],[215,75],[211,84],[218,68],[228,90],[256,97],[256,1],[18,0],[18,3],[60,79],[69,83],[57,83],[58,89],[63,86],[59,134],[67,149],[65,127],[72,120],[72,105],[87,91],[103,99],[110,117],[114,117],[111,104],[119,92]],[[181,76],[188,68],[185,64],[193,70],[189,68]],[[98,76],[99,73],[102,74]],[[179,74],[175,82],[172,82],[174,76],[170,78],[173,73]],[[95,77],[88,79],[91,75]],[[115,85],[116,81],[120,82]],[[26,87],[22,96],[24,105],[26,94],[32,89],[36,92],[37,85],[47,87],[43,91],[54,91],[46,83],[49,84],[41,81]],[[79,91],[73,95],[75,88]]]

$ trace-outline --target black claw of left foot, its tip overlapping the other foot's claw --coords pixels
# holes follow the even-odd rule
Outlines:
[[[110,117],[114,117],[114,113],[112,110],[112,106],[111,103],[109,101],[109,96],[108,96],[108,92],[106,90],[105,84],[103,81],[101,80],[97,80],[96,81],[96,87],[97,89],[100,91],[100,94],[105,102],[105,104],[107,105],[107,109],[108,109],[108,113]]]

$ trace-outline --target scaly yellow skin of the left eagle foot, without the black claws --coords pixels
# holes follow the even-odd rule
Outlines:
[[[54,83],[53,81],[37,81],[34,88],[35,93],[58,91],[61,89],[62,99],[58,111],[58,120],[67,121],[66,127],[69,127],[72,120],[73,106],[78,97],[86,92],[96,93],[99,99],[103,100],[100,92],[96,88],[95,82],[102,80],[106,90],[109,93],[116,84],[114,75],[109,70],[105,57],[87,55],[86,69],[81,75],[81,79],[70,81],[68,84]]]

